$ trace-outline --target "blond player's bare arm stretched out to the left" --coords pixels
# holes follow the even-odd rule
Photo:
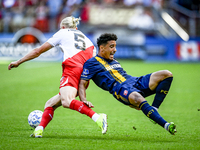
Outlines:
[[[45,42],[40,47],[35,48],[32,51],[30,51],[28,54],[26,54],[21,59],[14,61],[14,62],[11,62],[8,65],[8,70],[11,70],[11,68],[17,68],[20,64],[40,56],[42,53],[48,51],[50,48],[52,48],[51,44],[49,44],[48,42]]]

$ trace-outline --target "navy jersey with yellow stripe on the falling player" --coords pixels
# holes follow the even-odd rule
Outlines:
[[[97,86],[110,92],[114,84],[123,83],[130,77],[118,61],[109,61],[98,55],[84,64],[81,75],[81,79],[92,79]]]

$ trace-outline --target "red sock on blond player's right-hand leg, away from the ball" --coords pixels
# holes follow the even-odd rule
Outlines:
[[[90,107],[88,107],[83,102],[75,100],[75,99],[72,100],[69,108],[72,110],[76,110],[82,114],[85,114],[90,118],[92,118],[92,116],[95,114],[95,112]]]

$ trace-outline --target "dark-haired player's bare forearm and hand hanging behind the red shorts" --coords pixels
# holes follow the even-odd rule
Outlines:
[[[88,82],[89,81],[86,80],[80,80],[78,94],[80,100],[91,108],[94,107],[94,105],[86,99],[86,87],[88,86]]]

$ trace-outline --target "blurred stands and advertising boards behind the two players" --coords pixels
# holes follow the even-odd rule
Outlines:
[[[116,58],[200,61],[200,0],[0,0],[0,8],[0,60],[23,56],[73,15],[93,43],[115,33]],[[55,48],[40,59],[61,57]]]

